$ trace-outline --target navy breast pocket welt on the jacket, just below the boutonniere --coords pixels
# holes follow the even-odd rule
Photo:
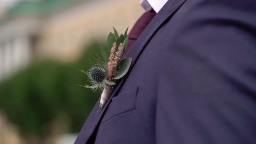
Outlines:
[[[138,91],[139,87],[133,88],[131,90],[125,89],[125,91],[120,91],[117,96],[114,96],[111,100],[111,103],[109,104],[109,107],[106,110],[101,124],[109,121],[110,119],[118,115],[135,109]]]

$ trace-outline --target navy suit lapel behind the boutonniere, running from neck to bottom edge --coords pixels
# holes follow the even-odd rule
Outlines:
[[[140,56],[141,52],[146,47],[147,43],[151,40],[151,38],[155,35],[155,33],[162,27],[165,21],[170,18],[174,11],[181,6],[186,0],[168,0],[167,3],[163,6],[163,8],[155,15],[155,17],[150,21],[147,27],[144,29],[142,34],[133,44],[130,53],[128,53],[128,57],[132,58],[131,69],[133,68],[134,64],[136,63],[138,57]],[[128,75],[128,74],[127,74]],[[106,111],[109,102],[111,101],[112,97],[119,91],[122,87],[127,75],[120,81],[120,83],[114,87],[112,94],[107,101],[104,109],[99,109],[99,100],[97,101],[95,107],[93,108],[91,114],[89,115],[88,119],[85,122],[80,134],[77,136],[77,140],[75,144],[85,144],[90,136],[92,135],[93,131],[95,130],[96,126],[98,125],[99,121],[101,120],[102,115]]]

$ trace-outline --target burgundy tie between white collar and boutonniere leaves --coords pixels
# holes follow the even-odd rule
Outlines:
[[[149,22],[154,18],[156,15],[155,11],[151,9],[151,11],[145,12],[134,24],[133,28],[131,29],[131,32],[128,35],[128,46],[125,50],[125,53],[123,54],[123,57],[125,57],[128,52],[131,50],[131,47],[133,43],[137,40],[139,35],[143,32],[143,30],[147,27]]]

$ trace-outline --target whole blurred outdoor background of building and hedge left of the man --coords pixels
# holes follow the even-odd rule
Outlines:
[[[0,0],[0,144],[73,144],[100,92],[91,51],[131,28],[139,0]]]

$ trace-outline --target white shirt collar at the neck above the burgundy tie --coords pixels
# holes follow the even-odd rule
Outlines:
[[[155,10],[156,13],[165,5],[168,0],[141,0],[141,6],[145,11],[150,11],[151,8]]]

